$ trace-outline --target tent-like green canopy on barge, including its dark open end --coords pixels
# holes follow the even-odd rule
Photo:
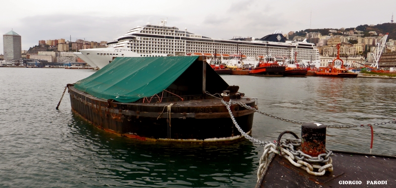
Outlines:
[[[117,57],[93,75],[78,81],[74,87],[98,98],[118,102],[135,102],[159,94],[171,85],[170,88],[177,90],[188,86],[188,92],[184,94],[198,94],[199,91],[201,94],[202,61],[197,61],[198,57]],[[217,81],[206,84],[206,91],[218,93],[225,90],[228,84],[208,64],[206,66],[206,83]]]

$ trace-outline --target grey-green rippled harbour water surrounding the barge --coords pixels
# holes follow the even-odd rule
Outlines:
[[[262,147],[135,141],[71,112],[64,86],[95,71],[0,68],[0,187],[249,187]],[[222,76],[260,110],[298,121],[366,124],[396,117],[396,80]],[[254,115],[252,136],[273,141],[300,127]],[[374,127],[373,153],[396,155],[396,125]],[[327,148],[369,152],[367,128],[329,129]]]

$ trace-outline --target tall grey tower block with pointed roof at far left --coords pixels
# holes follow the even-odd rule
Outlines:
[[[19,60],[21,56],[21,36],[10,31],[3,35],[4,60]]]

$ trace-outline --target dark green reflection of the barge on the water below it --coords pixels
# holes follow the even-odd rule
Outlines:
[[[87,125],[77,116],[65,148],[73,166],[92,185],[135,187],[244,187],[253,179],[257,151],[248,141],[234,144],[177,144],[135,141]],[[73,169],[69,169],[73,171]],[[88,182],[86,182],[88,183]]]

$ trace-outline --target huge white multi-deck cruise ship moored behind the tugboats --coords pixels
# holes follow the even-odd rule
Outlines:
[[[82,49],[75,54],[92,67],[100,69],[111,63],[115,57],[206,55],[211,59],[217,50],[221,59],[239,51],[243,54],[244,62],[257,62],[259,57],[265,55],[289,58],[297,51],[298,60],[303,63],[312,61],[319,67],[319,51],[314,44],[306,41],[286,41],[281,31],[275,31],[258,40],[252,38],[252,41],[238,37],[223,40],[190,33],[187,29],[183,31],[176,27],[167,27],[165,24],[166,20],[158,25],[147,23],[107,43],[106,48]]]

